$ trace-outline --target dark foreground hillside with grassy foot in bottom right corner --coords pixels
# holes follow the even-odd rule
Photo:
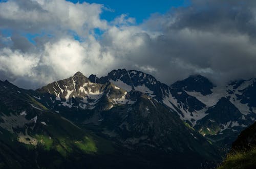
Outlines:
[[[231,151],[218,169],[256,167],[256,122],[241,132]]]

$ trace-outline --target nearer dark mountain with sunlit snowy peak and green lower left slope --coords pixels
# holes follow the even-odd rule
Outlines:
[[[0,81],[0,168],[208,168],[218,154],[145,93],[80,72],[36,91]]]

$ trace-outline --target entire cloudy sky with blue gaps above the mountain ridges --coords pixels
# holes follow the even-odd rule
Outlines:
[[[119,68],[167,85],[256,77],[255,11],[252,0],[0,0],[0,80],[37,89]]]

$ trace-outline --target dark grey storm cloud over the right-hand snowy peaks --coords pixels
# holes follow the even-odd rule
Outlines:
[[[146,53],[154,60],[148,64],[165,82],[191,73],[216,82],[255,77],[255,5],[255,1],[194,1],[188,8],[152,16],[143,26],[161,35],[148,43]]]

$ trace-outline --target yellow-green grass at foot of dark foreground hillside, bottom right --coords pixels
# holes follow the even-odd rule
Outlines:
[[[249,151],[232,151],[218,169],[256,168],[256,147]]]

